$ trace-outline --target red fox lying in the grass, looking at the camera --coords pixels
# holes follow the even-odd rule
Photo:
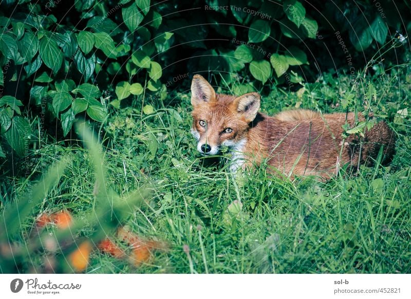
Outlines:
[[[257,92],[235,97],[216,94],[199,74],[191,84],[192,134],[203,155],[216,155],[222,146],[232,152],[230,169],[245,169],[267,159],[286,175],[315,175],[329,179],[340,165],[372,163],[383,146],[383,161],[395,151],[395,136],[385,122],[365,130],[364,137],[343,138],[343,125],[356,124],[354,113],[316,113],[299,109],[270,117],[258,112]],[[365,118],[358,114],[358,120]],[[271,167],[270,167],[271,168]]]

